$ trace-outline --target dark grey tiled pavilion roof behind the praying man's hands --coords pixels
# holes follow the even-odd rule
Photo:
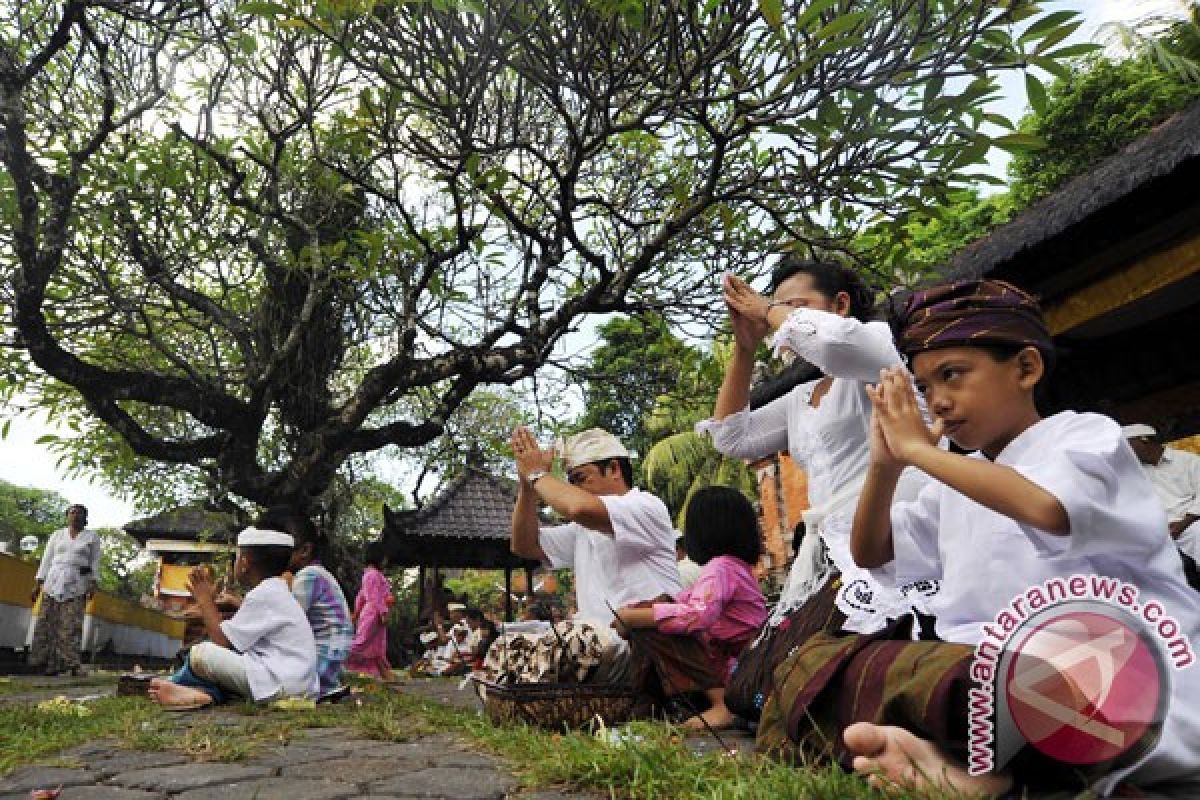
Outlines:
[[[419,510],[384,506],[372,549],[390,566],[535,567],[509,549],[516,497],[512,481],[470,467]]]

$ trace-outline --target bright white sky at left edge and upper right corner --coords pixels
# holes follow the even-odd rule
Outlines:
[[[1147,14],[1162,12],[1172,7],[1177,0],[1058,0],[1049,2],[1051,10],[1076,10],[1084,14],[1085,24],[1079,37],[1084,41],[1094,40],[1097,29],[1112,22],[1133,22]],[[1019,74],[1004,80],[1007,100],[998,109],[1015,119],[1025,107],[1025,84]],[[992,170],[1002,174],[1003,162],[997,157]],[[68,479],[55,464],[55,456],[44,446],[38,445],[38,437],[54,432],[47,427],[44,419],[14,414],[10,409],[0,410],[0,422],[11,420],[7,438],[0,441],[0,480],[52,489],[60,493],[68,503],[82,503],[88,506],[90,524],[94,528],[120,528],[134,519],[133,506],[114,495],[97,483],[85,479]],[[61,432],[58,432],[61,433]]]

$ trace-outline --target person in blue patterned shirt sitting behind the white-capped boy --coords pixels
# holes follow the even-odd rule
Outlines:
[[[320,680],[320,700],[336,700],[348,692],[342,686],[342,664],[350,655],[354,622],[342,587],[329,570],[320,565],[325,539],[312,521],[302,513],[280,506],[268,509],[257,527],[282,530],[295,540],[292,560],[292,596],[300,603],[312,634],[317,640],[317,676]]]

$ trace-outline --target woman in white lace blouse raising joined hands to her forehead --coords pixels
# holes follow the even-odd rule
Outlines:
[[[709,433],[720,452],[736,458],[762,458],[786,449],[808,473],[811,507],[804,523],[810,535],[768,626],[803,607],[836,570],[841,585],[835,602],[846,615],[842,630],[871,633],[888,619],[922,609],[923,597],[936,591],[932,583],[884,589],[850,557],[854,505],[870,456],[871,403],[863,386],[877,381],[881,368],[900,365],[900,354],[888,325],[869,321],[874,296],[853,271],[785,257],[772,275],[772,288],[768,300],[740,278],[726,276],[725,302],[736,347],[713,419],[696,429]],[[824,377],[750,410],[754,353],[772,331],[778,355],[799,356]],[[916,497],[923,482],[919,473],[908,470],[905,497]]]

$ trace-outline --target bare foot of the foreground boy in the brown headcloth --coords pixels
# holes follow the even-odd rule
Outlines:
[[[950,788],[998,796],[1013,786],[1007,772],[970,775],[937,746],[892,726],[856,722],[842,734],[854,756],[854,771],[874,787]]]

